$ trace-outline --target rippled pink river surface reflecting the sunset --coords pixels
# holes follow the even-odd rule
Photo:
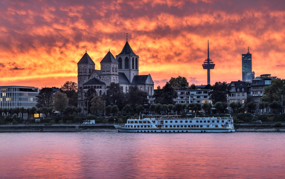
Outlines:
[[[285,133],[0,133],[0,178],[283,178]]]

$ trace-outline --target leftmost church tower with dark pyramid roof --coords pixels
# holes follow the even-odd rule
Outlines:
[[[77,70],[78,70],[78,90],[83,89],[83,84],[87,82],[89,77],[91,76],[92,72],[95,69],[95,63],[87,54],[87,51],[82,56],[82,58],[77,63]]]

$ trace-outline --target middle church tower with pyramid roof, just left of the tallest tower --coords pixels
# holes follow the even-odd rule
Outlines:
[[[101,60],[101,81],[105,82],[106,86],[110,86],[112,82],[119,82],[118,61],[113,54],[109,52]]]

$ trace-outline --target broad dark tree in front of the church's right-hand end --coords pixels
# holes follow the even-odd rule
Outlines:
[[[130,86],[129,91],[125,95],[127,104],[129,104],[133,109],[139,105],[148,102],[147,93],[145,91],[139,90],[138,86]]]

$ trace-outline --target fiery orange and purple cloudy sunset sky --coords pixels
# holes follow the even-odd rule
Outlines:
[[[139,74],[155,88],[178,75],[211,84],[242,79],[241,54],[249,51],[255,76],[285,78],[285,1],[138,0],[0,1],[0,86],[59,87],[77,82],[87,53],[100,69],[126,42],[140,56]]]

